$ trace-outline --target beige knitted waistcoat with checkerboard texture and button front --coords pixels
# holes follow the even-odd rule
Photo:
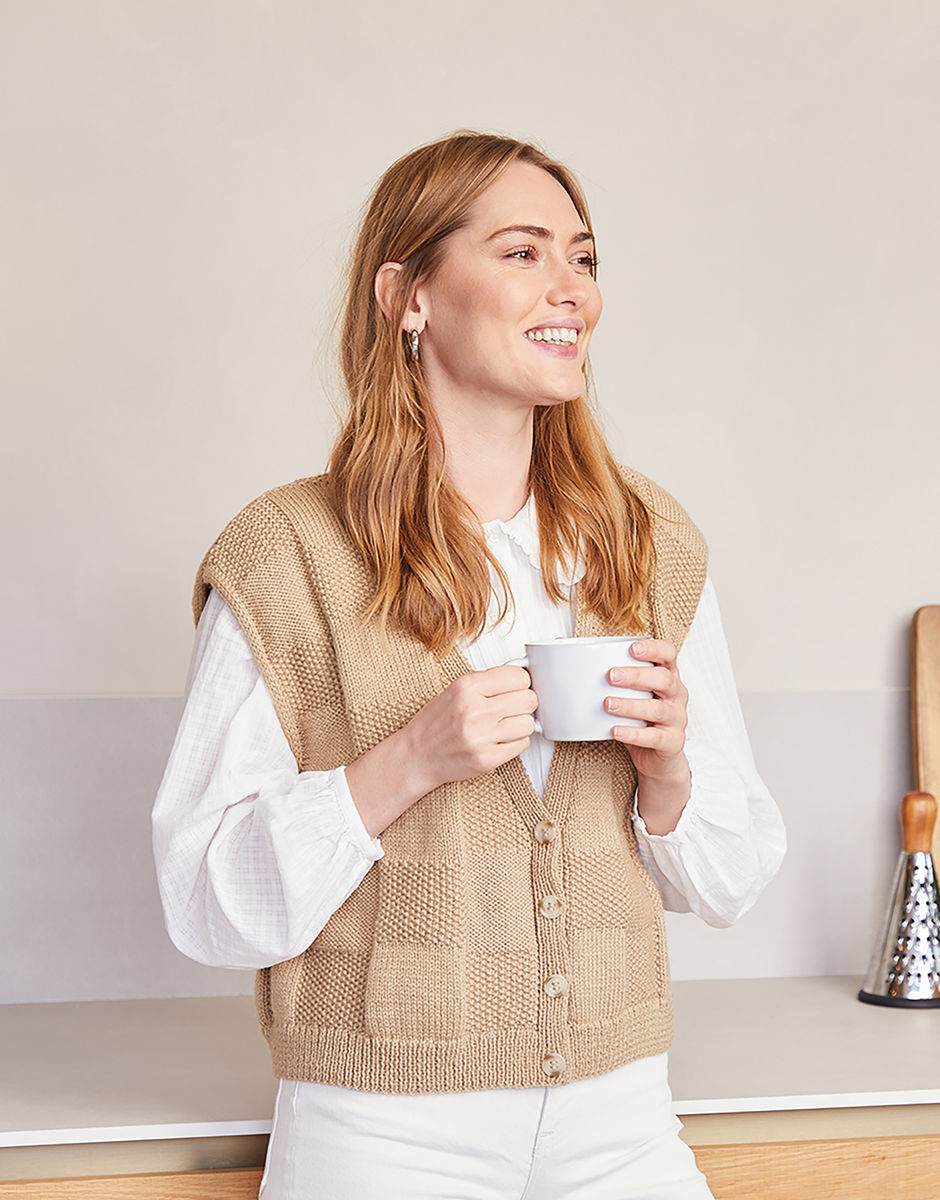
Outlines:
[[[681,644],[706,551],[676,502],[654,515],[645,632]],[[301,770],[351,762],[469,670],[363,613],[372,580],[325,476],[249,504],[205,556]],[[612,632],[576,614],[575,632]],[[430,792],[382,834],[384,857],[307,950],[258,973],[275,1073],[376,1092],[567,1084],[665,1050],[671,1000],[659,893],[630,820],[617,743],[558,743],[540,799],[519,758]]]

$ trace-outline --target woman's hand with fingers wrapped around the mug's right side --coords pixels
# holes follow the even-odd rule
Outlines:
[[[689,768],[683,748],[688,721],[689,694],[676,667],[676,647],[645,637],[634,642],[633,656],[652,666],[612,667],[607,679],[618,688],[651,691],[652,700],[611,695],[605,708],[616,716],[633,716],[645,726],[615,725],[613,738],[630,748],[637,774],[661,782],[687,779]]]

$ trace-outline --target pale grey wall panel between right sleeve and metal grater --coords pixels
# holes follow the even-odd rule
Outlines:
[[[911,786],[909,692],[761,692],[742,706],[788,854],[732,928],[667,914],[673,978],[862,974]]]

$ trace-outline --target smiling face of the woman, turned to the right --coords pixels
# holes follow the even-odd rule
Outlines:
[[[473,203],[406,328],[436,404],[531,409],[583,392],[594,242],[547,172],[515,162]]]

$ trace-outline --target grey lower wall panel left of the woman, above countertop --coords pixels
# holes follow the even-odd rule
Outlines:
[[[250,991],[170,943],[150,808],[178,700],[0,701],[0,1002]]]

